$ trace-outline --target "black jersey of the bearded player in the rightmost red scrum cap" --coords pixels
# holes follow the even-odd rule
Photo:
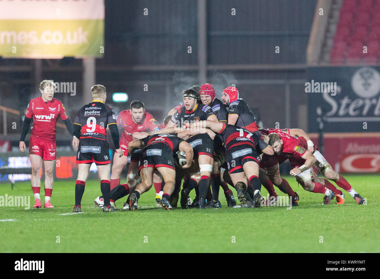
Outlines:
[[[247,129],[250,132],[257,131],[256,119],[243,99],[231,102],[228,114],[237,114],[239,118],[235,123],[236,126]]]

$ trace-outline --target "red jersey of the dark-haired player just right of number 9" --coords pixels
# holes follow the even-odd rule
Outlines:
[[[135,123],[132,119],[131,110],[126,109],[116,117],[117,126],[122,126],[123,132],[120,137],[120,142],[130,142],[133,140],[132,134],[134,132],[152,132],[160,123],[154,117],[144,111],[144,116],[139,123]]]

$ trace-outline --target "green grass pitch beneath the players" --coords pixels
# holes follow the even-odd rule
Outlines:
[[[93,205],[100,195],[100,181],[93,180],[86,182],[84,213],[66,214],[74,207],[74,181],[56,180],[51,201],[55,208],[41,209],[33,209],[30,183],[17,183],[13,190],[0,184],[0,195],[29,195],[32,207],[0,207],[0,251],[380,252],[380,175],[345,175],[367,198],[367,205],[360,206],[347,192],[344,205],[321,205],[322,194],[304,191],[293,177],[285,178],[300,196],[299,206],[291,210],[228,208],[220,189],[221,209],[182,210],[178,202],[178,209],[164,211],[156,208],[152,187],[141,195],[139,210],[103,213]],[[261,194],[266,196],[264,188]],[[282,195],[278,189],[277,194]],[[116,204],[121,208],[123,202]],[[14,221],[3,221],[8,219]]]

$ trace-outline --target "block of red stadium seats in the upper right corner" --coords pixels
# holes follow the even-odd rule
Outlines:
[[[363,53],[363,47],[367,53]],[[333,64],[380,62],[380,0],[344,0],[330,52]]]

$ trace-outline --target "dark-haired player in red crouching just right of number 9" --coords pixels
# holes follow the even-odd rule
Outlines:
[[[118,128],[122,129],[119,144],[124,156],[114,156],[111,172],[111,190],[120,185],[120,174],[125,165],[130,163],[131,157],[128,156],[128,142],[133,140],[132,134],[134,132],[151,132],[160,125],[150,113],[145,111],[144,103],[136,100],[131,102],[130,109],[119,112],[116,117],[116,123]],[[127,184],[132,184],[133,181],[130,181],[130,179],[135,179],[130,176],[127,178]],[[112,207],[116,207],[114,202],[111,199]],[[103,206],[103,197],[97,197],[94,203],[101,208]]]

